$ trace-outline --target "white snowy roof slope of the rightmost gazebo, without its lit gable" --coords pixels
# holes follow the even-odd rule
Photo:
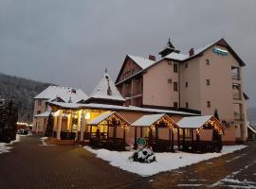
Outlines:
[[[213,117],[212,115],[205,115],[205,116],[192,116],[192,117],[184,117],[176,124],[179,128],[186,128],[186,129],[197,129],[201,128],[206,124],[210,118]]]

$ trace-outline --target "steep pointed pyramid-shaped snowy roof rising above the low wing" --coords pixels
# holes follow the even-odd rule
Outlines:
[[[101,77],[100,82],[92,91],[89,98],[101,98],[110,100],[125,101],[125,99],[119,93],[118,88],[112,81],[111,77],[105,71],[104,75]]]

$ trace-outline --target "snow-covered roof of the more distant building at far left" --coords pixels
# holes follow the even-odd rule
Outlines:
[[[47,99],[48,101],[52,101],[57,97],[63,99],[64,102],[68,102],[71,100],[71,102],[74,103],[88,98],[88,96],[84,94],[81,89],[54,85],[48,86],[43,92],[37,94],[34,98]]]

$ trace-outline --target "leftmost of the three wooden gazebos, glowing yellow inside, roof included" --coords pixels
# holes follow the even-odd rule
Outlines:
[[[104,112],[88,122],[90,145],[97,148],[122,150],[130,123],[118,112]],[[122,133],[118,131],[122,129]]]

